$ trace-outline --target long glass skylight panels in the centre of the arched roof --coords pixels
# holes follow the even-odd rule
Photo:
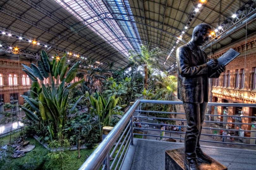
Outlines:
[[[113,48],[121,52],[124,56],[128,56],[129,50],[139,51],[140,38],[136,24],[129,21],[120,21],[118,25],[113,18],[112,13],[107,8],[106,4],[101,0],[55,0],[64,9],[69,11],[85,26],[98,34],[106,42],[111,44]],[[131,14],[131,9],[128,1],[122,3],[122,0],[107,1],[114,13],[127,15]],[[125,9],[127,5],[129,8]],[[134,21],[134,19],[132,18]],[[125,35],[126,34],[126,35]],[[128,38],[130,41],[128,40]],[[138,41],[139,39],[139,41]]]

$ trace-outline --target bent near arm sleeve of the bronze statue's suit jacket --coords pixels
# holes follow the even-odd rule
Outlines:
[[[182,77],[207,74],[207,68],[208,68],[207,65],[202,64],[198,66],[193,66],[190,62],[188,51],[186,51],[184,47],[180,47],[177,49],[176,58],[177,58],[177,67]]]

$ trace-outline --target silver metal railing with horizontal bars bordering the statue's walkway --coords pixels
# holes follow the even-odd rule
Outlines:
[[[179,101],[160,101],[160,100],[137,100],[131,108],[126,112],[123,118],[117,123],[117,125],[113,128],[113,130],[107,135],[107,137],[99,144],[99,146],[94,150],[94,152],[87,158],[87,160],[82,164],[79,170],[97,170],[97,169],[121,169],[125,155],[127,154],[128,148],[133,144],[133,135],[143,135],[143,136],[151,136],[151,137],[164,137],[164,138],[173,138],[184,140],[181,134],[185,134],[186,132],[176,132],[169,130],[159,130],[159,129],[149,129],[143,127],[134,127],[133,118],[143,118],[143,119],[155,119],[155,120],[183,120],[183,119],[174,119],[174,118],[161,118],[161,117],[147,117],[147,116],[133,116],[135,111],[140,112],[149,112],[149,113],[161,113],[161,114],[185,114],[185,113],[176,113],[176,112],[161,112],[161,111],[143,111],[136,110],[140,103],[155,103],[155,104],[183,104],[183,102]],[[256,107],[256,104],[241,104],[241,103],[208,103],[209,106],[229,106],[229,107]],[[211,116],[226,116],[226,117],[234,117],[234,115],[218,115],[218,114],[206,114]],[[240,118],[256,118],[253,116],[237,116]],[[186,121],[186,119],[184,119]],[[236,123],[236,122],[217,122],[217,121],[204,121],[210,123],[223,123],[223,124],[235,124],[235,125],[253,125],[253,123]],[[170,125],[170,124],[160,124],[160,123],[150,123],[150,122],[136,122],[146,125],[152,126],[180,126],[180,125]],[[180,126],[186,127],[186,126]],[[143,130],[143,134],[134,133],[133,130]],[[231,132],[256,132],[253,130],[242,130],[242,129],[224,129],[224,128],[210,128],[203,127],[203,129],[209,130],[229,130]],[[180,137],[169,137],[169,136],[160,136],[160,135],[152,135],[149,133],[144,133],[144,131],[164,131],[168,133],[177,134]],[[212,137],[222,137],[222,135],[215,134],[204,134],[204,136],[212,136]],[[241,139],[255,139],[255,137],[244,137],[244,136],[228,136],[230,138],[241,138]],[[233,142],[219,142],[219,141],[211,141],[211,140],[200,140],[202,142],[213,142],[213,143],[224,143],[224,144],[239,144],[239,145],[251,145],[256,146],[255,144],[244,144],[244,143],[233,143]]]

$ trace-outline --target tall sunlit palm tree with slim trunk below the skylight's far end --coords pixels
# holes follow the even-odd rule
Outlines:
[[[130,61],[128,65],[131,65],[135,74],[144,74],[144,88],[148,89],[148,77],[150,70],[153,69],[162,69],[162,66],[158,62],[159,56],[162,54],[162,51],[156,47],[152,50],[149,49],[149,45],[141,45],[141,54],[138,54],[135,51],[130,52]]]

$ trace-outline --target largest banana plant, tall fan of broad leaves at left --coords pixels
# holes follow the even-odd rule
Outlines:
[[[36,114],[40,115],[40,120],[43,121],[51,140],[56,137],[58,132],[62,132],[66,124],[68,117],[67,102],[70,89],[84,81],[84,79],[81,79],[70,84],[76,77],[80,62],[76,62],[68,70],[69,65],[66,64],[66,53],[60,60],[55,56],[50,61],[46,52],[42,50],[41,61],[38,62],[37,66],[33,63],[31,67],[22,64],[22,70],[33,81],[32,88],[29,91],[31,98],[24,95],[22,97],[35,112],[33,113],[26,108],[21,108],[30,120],[36,121],[39,119],[37,119]],[[46,79],[48,82],[45,84],[43,81]],[[39,81],[41,81],[41,86]]]

